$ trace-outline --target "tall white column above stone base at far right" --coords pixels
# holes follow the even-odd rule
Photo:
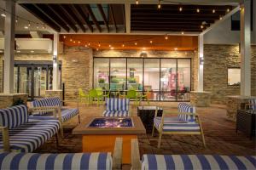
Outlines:
[[[251,1],[241,3],[241,95],[251,95]]]

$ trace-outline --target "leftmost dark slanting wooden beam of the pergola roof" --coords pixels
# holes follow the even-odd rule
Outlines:
[[[53,20],[50,20],[47,15],[45,15],[40,10],[38,10],[38,8],[36,6],[34,6],[33,4],[28,4],[28,3],[27,4],[20,4],[20,6],[23,7],[23,8],[26,8],[27,11],[34,14],[39,20],[42,20],[46,25],[48,25],[49,27],[51,27],[55,31],[57,31],[57,32],[61,31],[60,26],[55,24],[55,22]]]

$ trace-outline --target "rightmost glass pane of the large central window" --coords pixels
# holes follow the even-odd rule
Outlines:
[[[190,59],[177,59],[177,100],[190,99]]]

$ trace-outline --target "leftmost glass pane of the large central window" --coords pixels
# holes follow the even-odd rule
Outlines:
[[[94,59],[94,88],[109,89],[109,59]]]

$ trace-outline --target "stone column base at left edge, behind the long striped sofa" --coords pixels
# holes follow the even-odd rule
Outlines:
[[[28,94],[0,94],[0,109],[8,108],[22,100],[26,105]]]

